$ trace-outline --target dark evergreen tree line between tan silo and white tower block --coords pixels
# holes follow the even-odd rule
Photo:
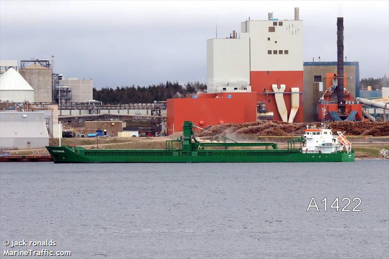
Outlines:
[[[101,101],[103,104],[153,103],[206,90],[207,85],[199,81],[188,82],[186,85],[167,81],[149,86],[117,86],[115,89],[103,87],[97,90],[93,87],[93,99]]]

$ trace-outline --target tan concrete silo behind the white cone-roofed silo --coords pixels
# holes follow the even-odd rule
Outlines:
[[[19,69],[19,73],[34,88],[36,103],[52,102],[52,69],[35,63]]]

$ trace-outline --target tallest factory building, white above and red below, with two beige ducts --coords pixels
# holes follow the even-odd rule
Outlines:
[[[207,92],[256,92],[257,101],[265,103],[275,120],[285,121],[281,114],[292,110],[296,111],[290,115],[292,121],[303,121],[303,29],[299,16],[299,8],[292,19],[268,13],[265,20],[242,22],[240,34],[232,31],[228,37],[207,40]]]

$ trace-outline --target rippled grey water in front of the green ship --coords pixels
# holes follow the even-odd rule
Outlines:
[[[0,172],[1,256],[4,240],[53,239],[49,249],[73,259],[389,257],[388,160],[0,163]],[[306,212],[312,197],[319,212]],[[360,197],[362,212],[330,209],[336,197]]]

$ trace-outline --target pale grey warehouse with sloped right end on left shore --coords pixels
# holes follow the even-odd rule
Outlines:
[[[45,148],[49,134],[44,112],[0,112],[0,148]]]

